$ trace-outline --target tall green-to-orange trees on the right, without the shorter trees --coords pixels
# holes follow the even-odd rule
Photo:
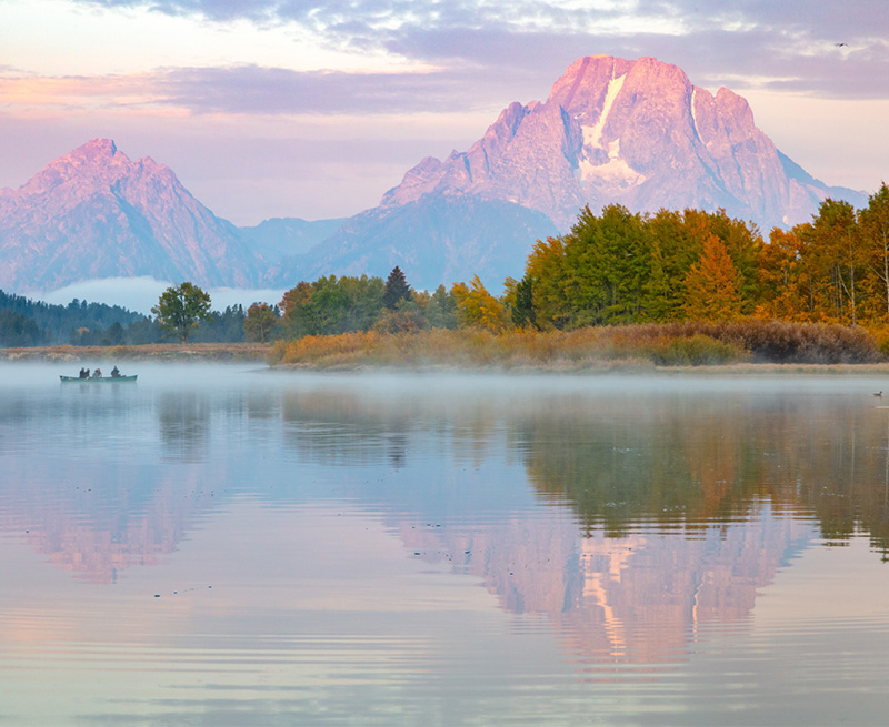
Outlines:
[[[752,316],[883,325],[889,189],[862,210],[825,200],[811,222],[776,228],[768,242],[723,211],[586,209],[569,233],[535,244],[525,276],[507,281],[499,303],[500,320],[489,314],[482,324],[570,330]]]

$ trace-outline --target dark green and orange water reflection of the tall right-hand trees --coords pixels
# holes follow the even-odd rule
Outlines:
[[[772,507],[813,514],[826,538],[889,536],[889,418],[848,398],[621,396],[525,416],[529,477],[583,527],[686,529]],[[643,407],[642,407],[643,404]]]

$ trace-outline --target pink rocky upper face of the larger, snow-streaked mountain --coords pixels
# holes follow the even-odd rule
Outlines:
[[[582,205],[615,202],[725,208],[768,230],[807,221],[827,195],[862,201],[785,159],[728,89],[713,95],[653,58],[595,55],[573,63],[545,103],[503,110],[468,151],[420,162],[381,206],[459,191],[538,210],[563,230]]]

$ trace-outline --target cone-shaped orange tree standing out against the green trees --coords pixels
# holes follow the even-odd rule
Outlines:
[[[741,280],[726,245],[715,234],[703,242],[700,260],[686,275],[686,316],[731,321],[741,315]]]

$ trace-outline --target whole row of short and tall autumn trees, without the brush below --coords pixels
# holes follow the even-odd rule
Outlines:
[[[384,283],[303,281],[284,294],[280,335],[743,319],[880,329],[889,324],[889,189],[882,184],[862,210],[827,199],[811,222],[776,228],[768,241],[721,210],[587,208],[570,232],[538,240],[525,275],[503,287],[497,296],[473,277],[411,291],[398,267]]]

